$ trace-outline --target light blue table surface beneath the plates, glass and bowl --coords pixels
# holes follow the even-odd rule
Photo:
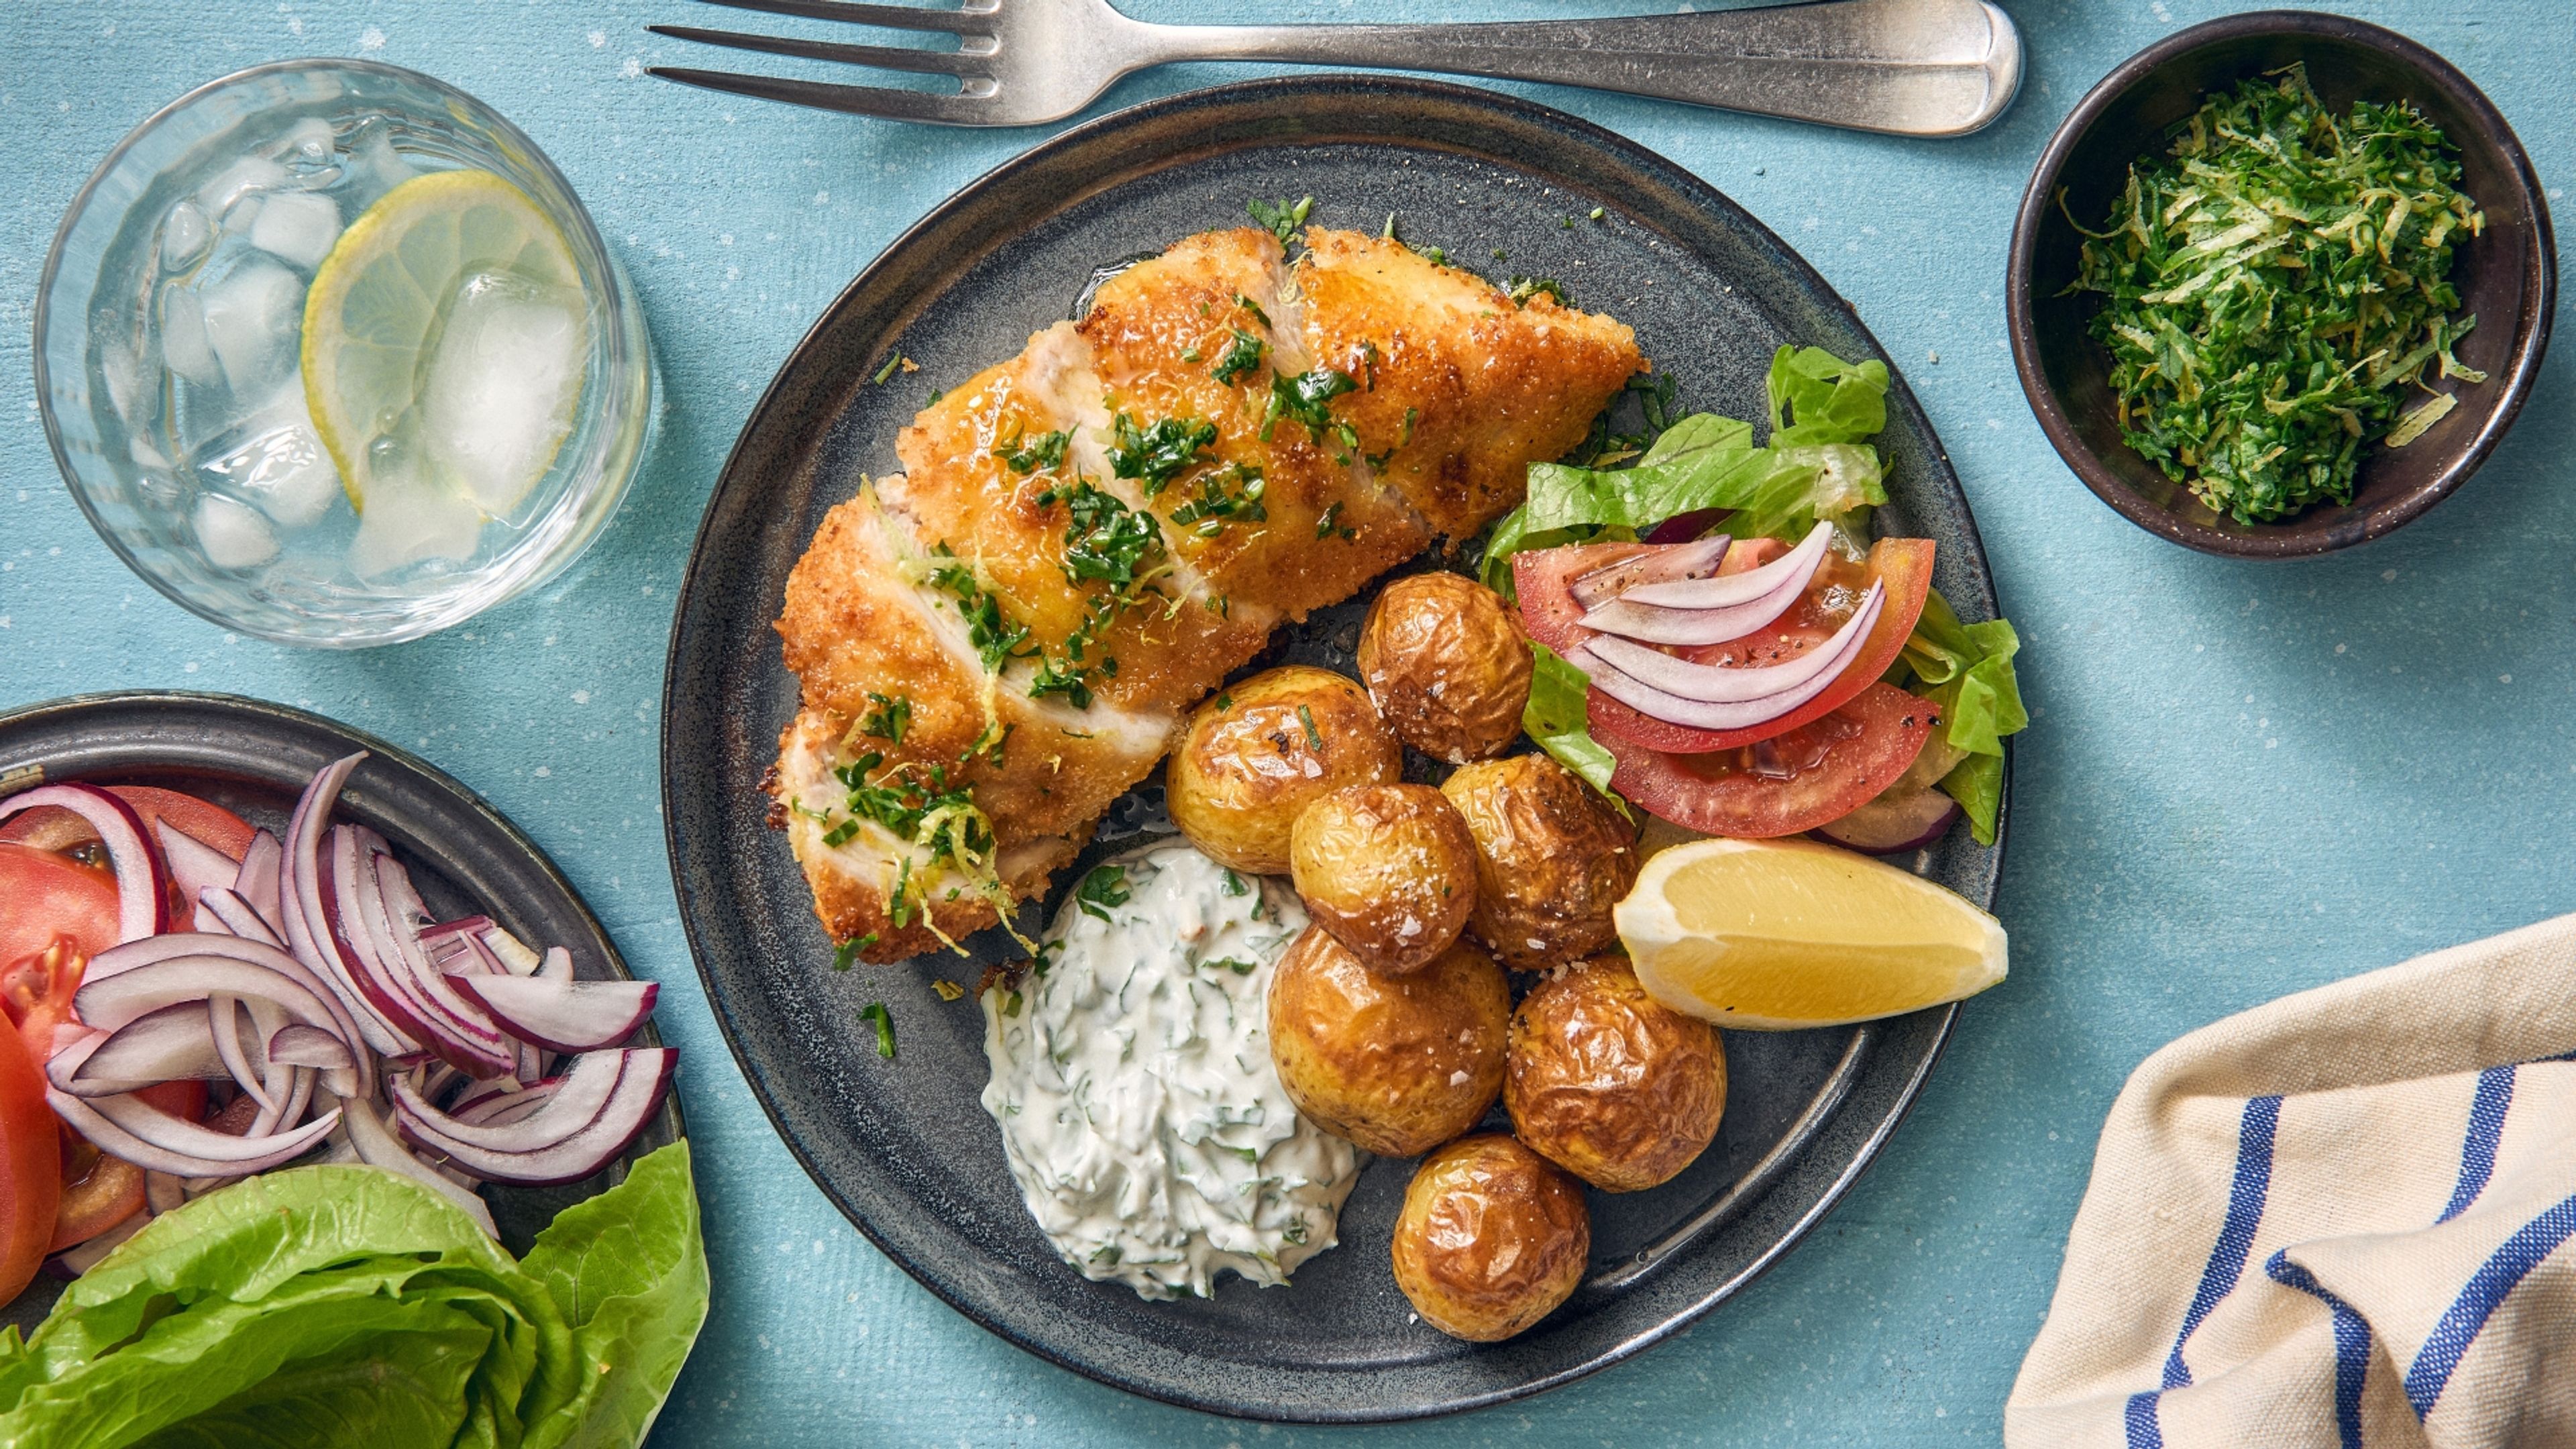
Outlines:
[[[2030,77],[2002,124],[1960,142],[1515,88],[1677,157],[1860,307],[1965,480],[2027,639],[2032,704],[1999,902],[2012,980],[1968,1006],[1911,1122],[1803,1248],[1680,1341],[1540,1400],[1383,1431],[1267,1428],[1041,1364],[914,1287],[814,1191],[706,1011],[657,784],[662,650],[701,503],[832,294],[1041,131],[912,129],[644,77],[644,64],[708,64],[644,34],[711,23],[685,0],[8,0],[0,706],[131,686],[283,699],[417,748],[554,853],[629,962],[665,982],[662,1029],[683,1049],[716,1302],[659,1444],[1991,1444],[2097,1124],[2146,1052],[2272,995],[2576,908],[2576,338],[2561,338],[2494,462],[2396,539],[2244,565],[2123,523],[2056,459],[2014,384],[2007,232],[2084,88],[2233,5],[2007,5]],[[2483,85],[2568,219],[2576,8],[2342,8]],[[1139,8],[1175,21],[1471,10],[1574,13]],[[526,126],[634,273],[662,366],[654,451],[574,572],[451,634],[361,655],[237,639],[134,580],[62,490],[28,369],[46,242],[106,150],[191,85],[304,54],[410,64]],[[1095,113],[1247,72],[1131,77]]]

